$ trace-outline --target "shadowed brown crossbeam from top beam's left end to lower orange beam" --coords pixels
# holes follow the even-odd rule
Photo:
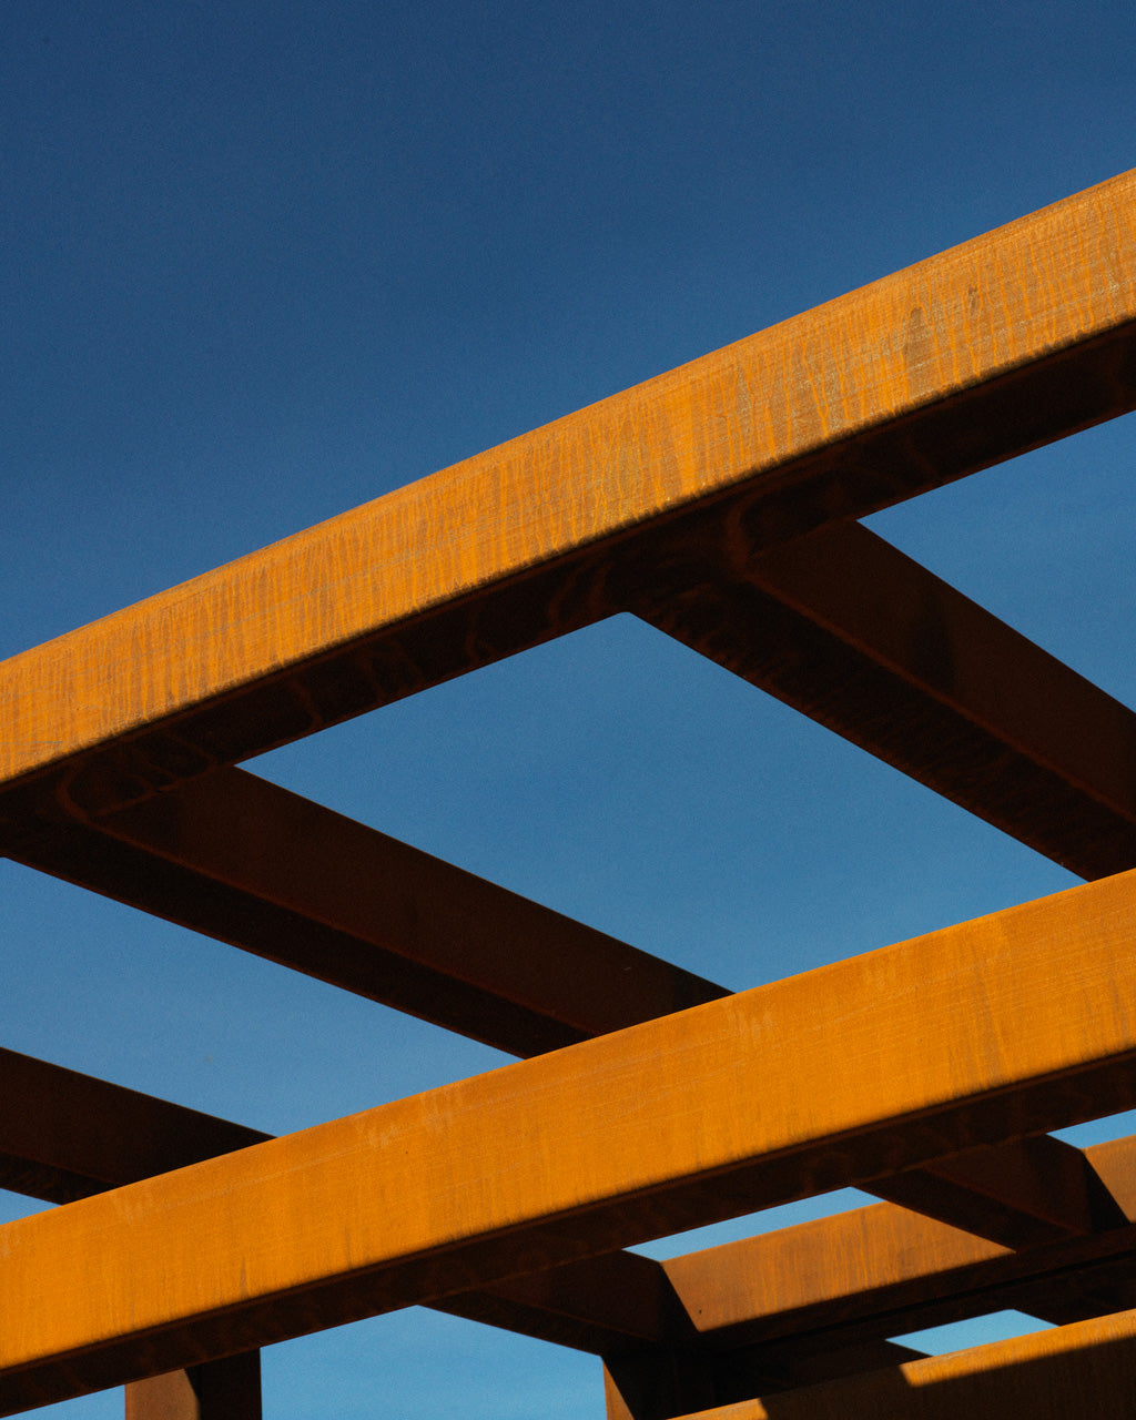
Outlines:
[[[18,856],[514,1055],[727,994],[243,770]]]

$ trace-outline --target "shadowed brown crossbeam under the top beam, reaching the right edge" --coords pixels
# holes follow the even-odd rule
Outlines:
[[[1136,714],[855,523],[632,609],[1082,878],[1136,866]]]

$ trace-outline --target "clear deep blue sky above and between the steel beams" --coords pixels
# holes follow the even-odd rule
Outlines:
[[[10,3],[0,655],[1133,166],[1133,75],[1130,0]],[[873,525],[1133,703],[1132,459]],[[628,619],[253,768],[736,987],[1074,880]],[[10,1048],[273,1132],[500,1059],[0,886]],[[602,1413],[417,1311],[264,1366],[274,1420]]]

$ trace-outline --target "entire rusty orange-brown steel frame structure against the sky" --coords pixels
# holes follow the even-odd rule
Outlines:
[[[1136,1106],[1136,716],[856,523],[1133,408],[1129,173],[0,666],[4,853],[521,1056],[267,1139],[0,1052],[67,1204],[0,1230],[0,1413],[247,1420],[426,1304],[609,1420],[1135,1414],[1136,1140],[1049,1130]],[[236,767],[615,612],[1089,882],[730,994]],[[886,1340],[1001,1306],[1056,1326]]]

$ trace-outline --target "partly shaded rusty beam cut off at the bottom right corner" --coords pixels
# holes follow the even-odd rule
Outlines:
[[[613,1387],[612,1387],[613,1389]],[[611,1420],[630,1413],[612,1403]],[[949,1356],[682,1416],[680,1420],[1129,1420],[1136,1411],[1136,1312],[1034,1332]]]

